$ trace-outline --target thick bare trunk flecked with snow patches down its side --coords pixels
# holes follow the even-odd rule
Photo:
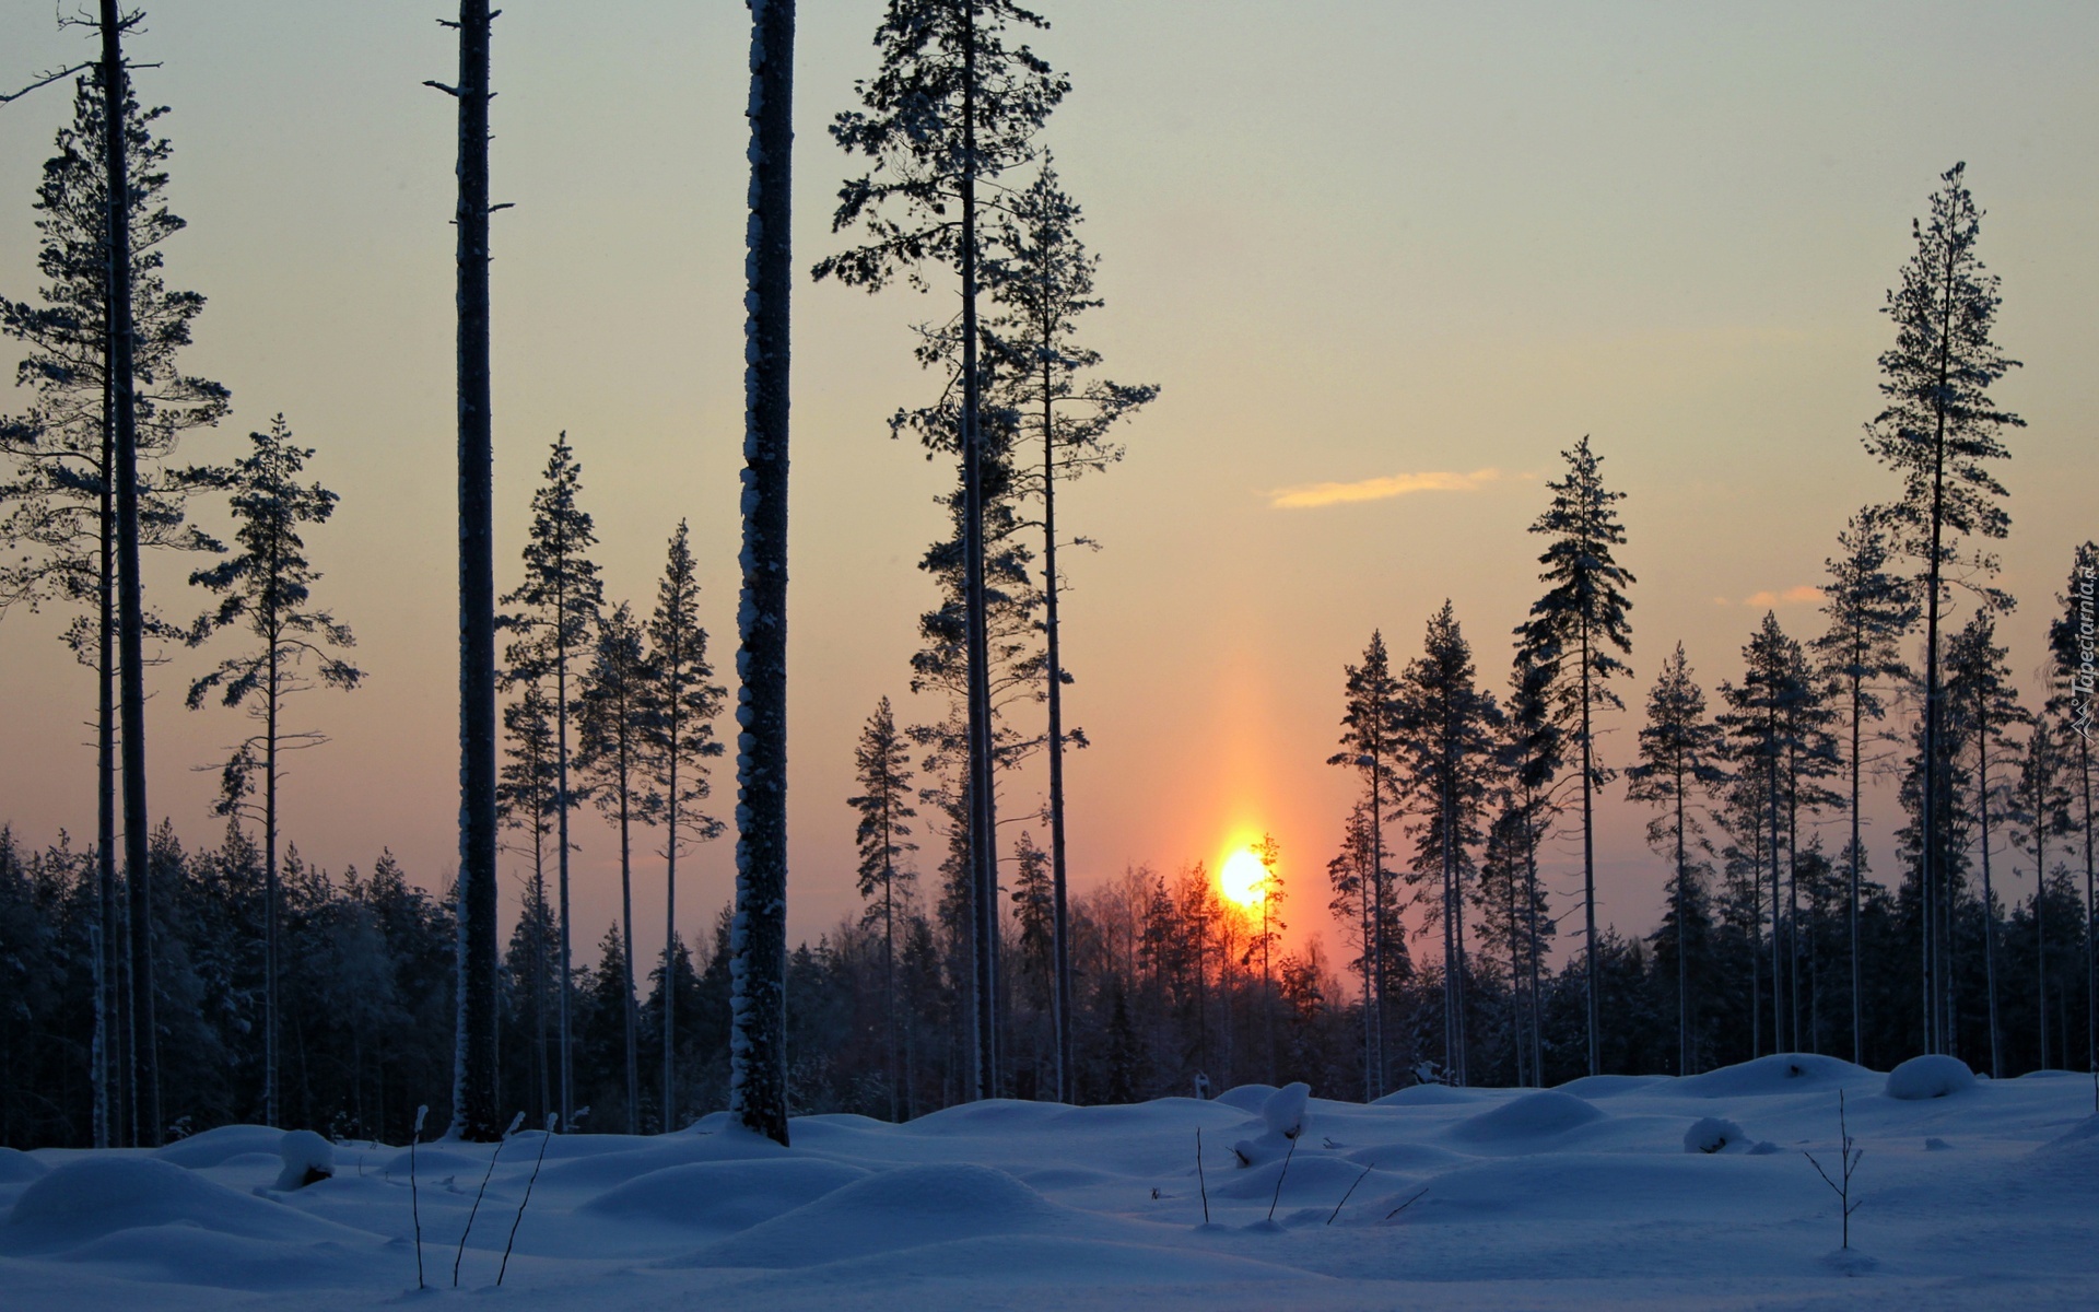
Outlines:
[[[751,6],[743,596],[737,605],[737,917],[728,1113],[787,1142],[787,403],[793,0]]]

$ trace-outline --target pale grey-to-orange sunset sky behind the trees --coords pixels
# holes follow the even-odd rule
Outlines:
[[[319,691],[283,829],[330,869],[393,848],[441,888],[455,865],[451,101],[441,4],[170,0],[130,50],[172,107],[170,285],[210,298],[185,367],[233,390],[187,439],[222,460],[283,414],[342,495],[309,535],[317,600],[357,632],[363,689]],[[875,69],[875,0],[804,0],[796,67],[796,260],[842,246],[850,162],[825,126]],[[1958,160],[2002,277],[1998,390],[2028,420],[2002,584],[2013,668],[2038,686],[2047,598],[2099,535],[2099,84],[2089,4],[1205,4],[1041,0],[1035,46],[1073,92],[1043,143],[1085,208],[1108,376],[1157,382],[1127,460],[1060,519],[1102,544],[1068,567],[1066,720],[1077,890],[1129,865],[1215,865],[1282,846],[1289,938],[1337,928],[1324,867],[1356,791],[1335,752],[1343,665],[1381,630],[1411,659],[1448,598],[1484,682],[1541,592],[1526,527],[1560,451],[1589,435],[1627,493],[1629,705],[1681,640],[1713,691],[1765,609],[1820,628],[1835,533],[1895,481],[1860,445],[1879,409],[1879,313],[1910,220]],[[617,23],[514,0],[493,44],[497,586],[518,579],[548,443],[584,466],[609,600],[653,605],[691,525],[703,615],[733,670],[743,401],[747,15],[636,0]],[[90,55],[46,0],[0,0],[0,80]],[[69,92],[0,107],[0,294],[36,288],[29,208]],[[789,934],[856,905],[852,745],[884,695],[913,699],[915,569],[953,468],[892,441],[928,399],[913,323],[953,290],[796,288],[789,592]],[[0,342],[0,346],[6,346]],[[0,401],[13,411],[23,393]],[[225,525],[206,508],[206,525]],[[149,600],[204,609],[195,560],[147,565]],[[65,615],[0,619],[0,823],[94,831],[90,672]],[[220,642],[231,642],[222,638]],[[151,812],[212,844],[210,766],[235,712],[183,710],[225,649],[149,674]],[[724,728],[728,728],[724,720]],[[1625,764],[1637,720],[1606,724]],[[714,806],[733,812],[733,764]],[[1043,781],[1008,785],[1010,814]],[[1646,812],[1599,810],[1599,917],[1658,917]],[[1889,800],[1868,833],[1889,869]],[[1041,827],[1037,825],[1037,838]],[[1394,838],[1398,833],[1394,831]],[[617,844],[577,827],[579,957],[617,909]],[[646,848],[644,848],[646,850]],[[932,861],[928,859],[930,871]],[[680,863],[680,932],[730,896],[733,840]],[[514,903],[521,865],[506,859]],[[1549,877],[1578,886],[1578,848]],[[661,863],[636,869],[661,932]],[[1417,951],[1425,951],[1423,949]]]

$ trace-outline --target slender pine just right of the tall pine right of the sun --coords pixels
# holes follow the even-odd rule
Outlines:
[[[1639,764],[1627,766],[1625,796],[1650,802],[1662,814],[1648,821],[1648,846],[1669,856],[1669,901],[1677,928],[1677,1075],[1692,1075],[1692,982],[1690,922],[1698,898],[1694,882],[1698,865],[1690,850],[1706,848],[1698,823],[1696,796],[1727,781],[1727,770],[1715,764],[1723,741],[1719,726],[1706,720],[1704,691],[1692,678],[1683,644],[1662,661],[1662,672],[1648,693],[1648,724],[1639,731]]]

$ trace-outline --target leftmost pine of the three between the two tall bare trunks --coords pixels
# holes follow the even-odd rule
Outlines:
[[[590,647],[598,609],[605,602],[605,586],[598,581],[598,567],[586,554],[598,535],[590,512],[581,508],[584,468],[575,462],[569,435],[554,439],[546,460],[544,483],[531,498],[531,527],[525,537],[525,581],[516,592],[502,598],[506,607],[521,607],[504,615],[502,626],[514,630],[514,640],[504,653],[510,665],[508,678],[544,678],[554,686],[554,890],[560,909],[560,951],[556,953],[556,1089],[560,1096],[560,1123],[567,1127],[575,1110],[575,1054],[571,1041],[571,1016],[575,993],[575,970],[569,949],[569,814],[584,798],[569,787],[569,726],[575,722],[577,701],[569,695],[575,663]]]

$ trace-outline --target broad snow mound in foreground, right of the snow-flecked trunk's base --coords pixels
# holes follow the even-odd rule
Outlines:
[[[915,1165],[854,1180],[678,1266],[817,1266],[953,1239],[1094,1230],[1087,1222],[993,1167]]]

